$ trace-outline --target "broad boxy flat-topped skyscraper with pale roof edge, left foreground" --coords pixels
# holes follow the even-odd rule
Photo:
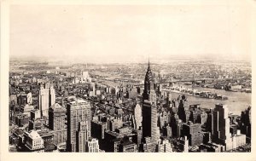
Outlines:
[[[79,124],[80,122],[84,123]],[[86,141],[86,138],[90,137],[90,102],[75,100],[67,103],[67,152],[79,152],[76,146],[80,142],[77,141],[77,131],[84,131],[85,127],[81,130],[81,126],[84,124],[88,124],[88,126],[86,125],[87,136],[83,140]],[[83,144],[85,147],[85,142]]]

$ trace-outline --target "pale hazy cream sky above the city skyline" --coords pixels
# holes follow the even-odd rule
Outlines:
[[[250,58],[240,5],[12,5],[10,56],[127,61],[173,55]]]

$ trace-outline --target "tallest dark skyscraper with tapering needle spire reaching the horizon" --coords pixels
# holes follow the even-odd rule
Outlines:
[[[148,70],[145,76],[143,91],[143,139],[145,140],[145,137],[150,137],[151,141],[158,141],[159,133],[154,78],[148,60]]]

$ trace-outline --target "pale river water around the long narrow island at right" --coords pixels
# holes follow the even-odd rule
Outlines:
[[[191,85],[181,85],[185,88],[192,89]],[[201,87],[194,87],[193,89],[197,89],[198,91],[211,91],[212,93],[217,93],[219,95],[225,95],[229,99],[225,101],[215,100],[215,99],[207,99],[201,97],[195,97],[191,95],[186,95],[189,104],[201,104],[202,108],[214,108],[215,104],[222,103],[228,105],[229,112],[234,114],[241,114],[241,111],[247,109],[248,106],[251,106],[251,94],[245,92],[231,92],[225,91],[221,89],[208,89],[208,88],[201,88]],[[172,92],[172,98],[177,98],[178,95]]]

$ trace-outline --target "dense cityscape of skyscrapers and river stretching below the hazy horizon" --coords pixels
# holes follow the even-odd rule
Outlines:
[[[9,152],[251,152],[251,64],[10,60]]]

